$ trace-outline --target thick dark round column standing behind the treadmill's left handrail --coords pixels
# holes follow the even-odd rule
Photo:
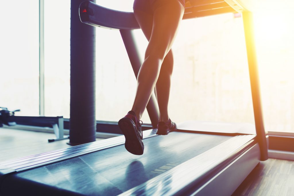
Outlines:
[[[69,144],[96,140],[95,117],[95,27],[83,24],[79,6],[71,0],[71,96]],[[95,3],[95,1],[93,1]]]

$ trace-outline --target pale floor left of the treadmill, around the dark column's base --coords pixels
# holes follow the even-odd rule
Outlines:
[[[69,140],[48,143],[54,138],[53,133],[0,128],[0,162],[70,147]]]

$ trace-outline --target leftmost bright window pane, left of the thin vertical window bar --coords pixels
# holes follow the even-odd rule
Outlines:
[[[0,106],[39,115],[39,1],[0,4]]]

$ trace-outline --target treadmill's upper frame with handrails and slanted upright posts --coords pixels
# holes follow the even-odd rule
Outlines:
[[[247,49],[248,68],[250,76],[251,95],[255,119],[255,130],[260,147],[260,160],[268,159],[268,132],[264,129],[263,113],[260,98],[258,64],[255,51],[253,14],[246,10],[238,0],[190,0],[185,7],[183,19],[191,19],[223,13],[242,12],[245,42]],[[230,8],[230,9],[228,9]],[[81,22],[96,27],[118,29],[126,47],[131,65],[137,77],[141,61],[134,41],[133,30],[140,28],[132,12],[123,12],[99,6],[91,1],[84,1],[79,9]],[[111,17],[105,17],[111,16]],[[158,109],[154,96],[151,96],[147,111],[153,128],[158,122]]]

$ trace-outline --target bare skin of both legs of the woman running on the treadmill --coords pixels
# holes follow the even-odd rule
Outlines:
[[[146,38],[150,37],[145,60],[138,73],[137,92],[132,107],[138,119],[142,117],[156,85],[156,95],[161,114],[159,120],[168,120],[167,105],[173,67],[173,57],[170,50],[184,13],[184,8],[180,2],[172,2],[154,11],[152,26],[150,25],[151,22],[146,23],[146,20],[150,21],[150,15],[140,10],[134,10],[135,17]],[[151,36],[150,29],[152,29]],[[164,59],[166,59],[166,62],[164,62]]]

